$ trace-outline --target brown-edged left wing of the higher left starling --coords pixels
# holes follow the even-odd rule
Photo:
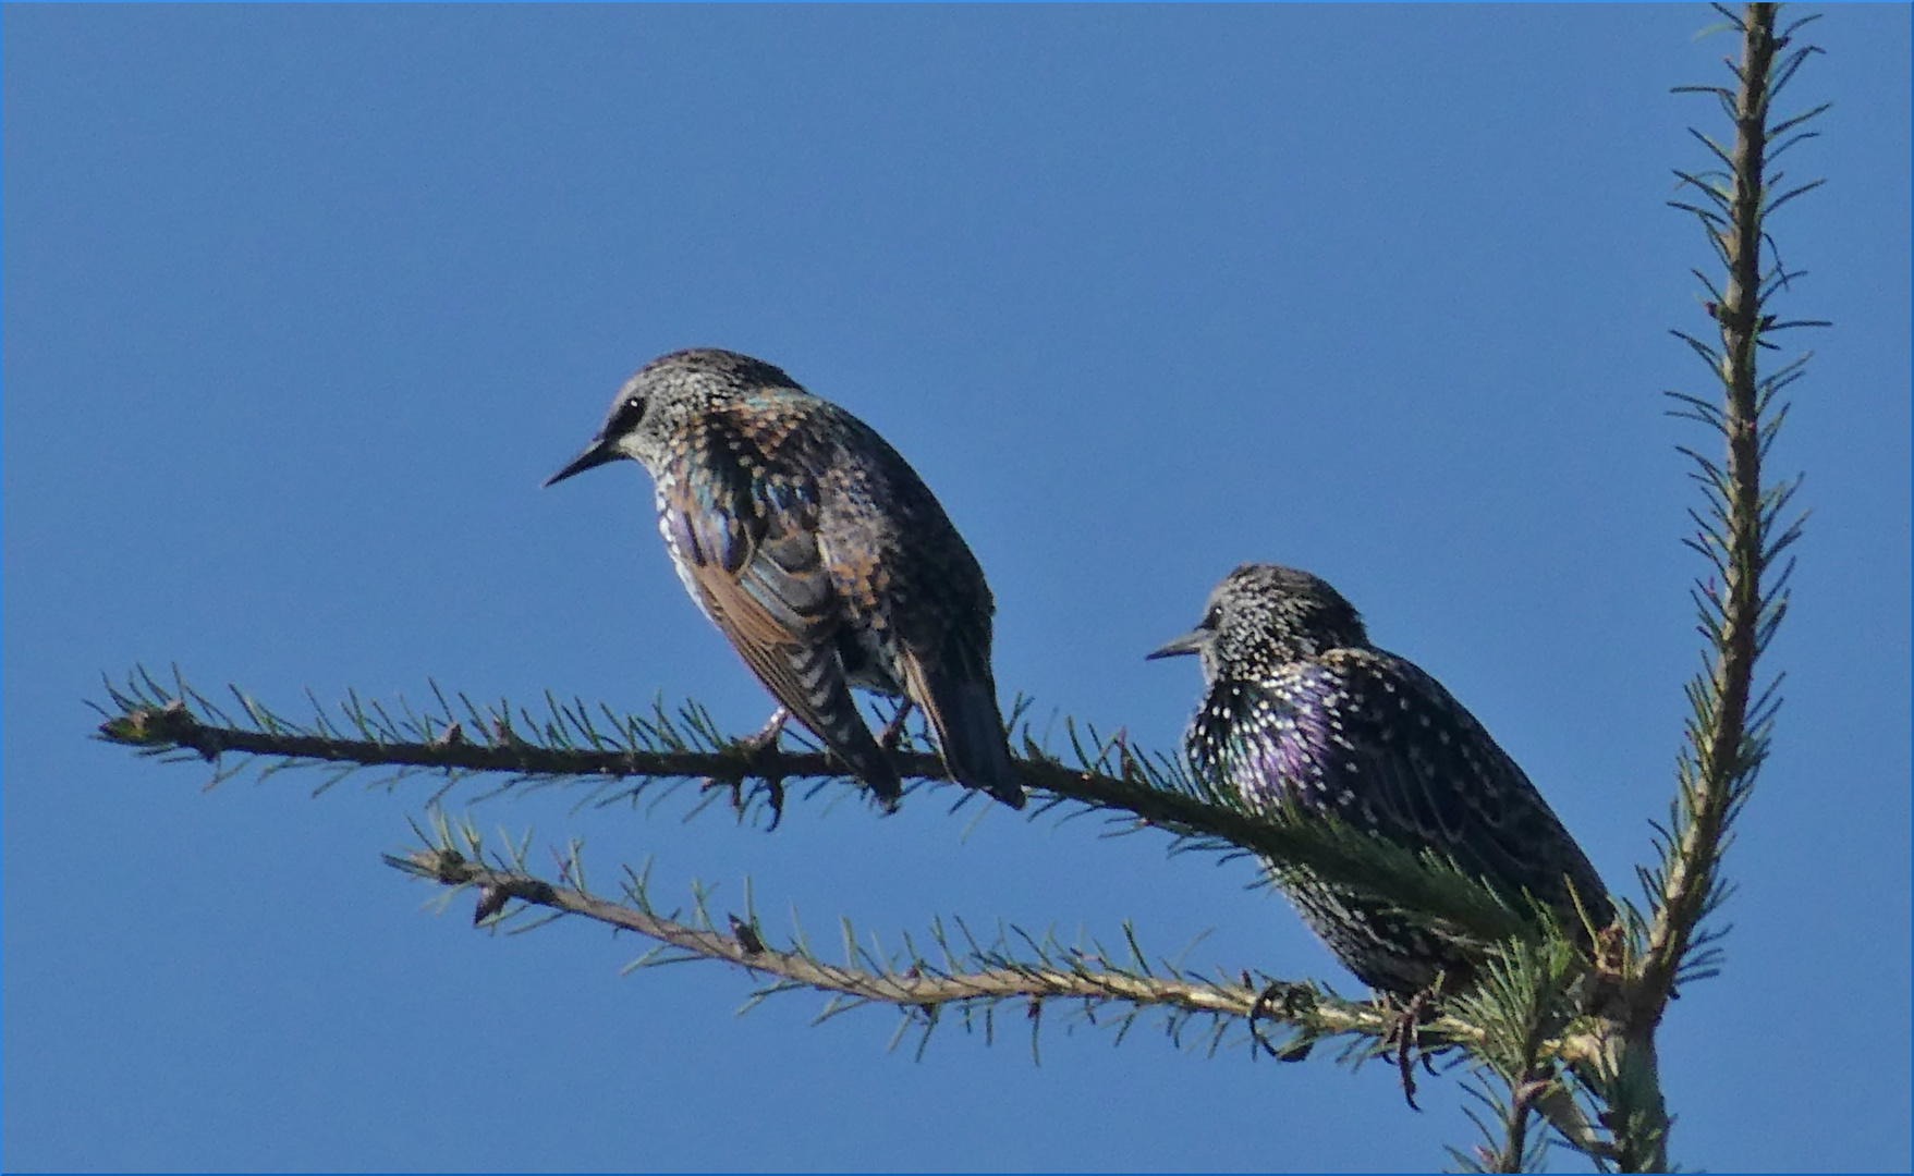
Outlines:
[[[771,696],[892,795],[896,769],[857,715],[836,654],[840,610],[817,547],[815,486],[792,470],[746,468],[745,442],[714,428],[660,495],[687,585]]]

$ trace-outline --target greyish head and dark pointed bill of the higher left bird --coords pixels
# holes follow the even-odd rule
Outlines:
[[[737,352],[691,348],[658,356],[618,388],[597,436],[545,486],[620,457],[657,470],[685,423],[712,405],[769,388],[802,390],[783,369]]]

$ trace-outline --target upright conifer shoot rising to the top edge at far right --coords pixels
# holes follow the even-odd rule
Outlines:
[[[1711,973],[1707,954],[1713,935],[1702,920],[1726,897],[1721,883],[1721,855],[1728,828],[1753,788],[1767,757],[1780,698],[1770,683],[1755,692],[1755,664],[1767,650],[1788,610],[1792,564],[1780,564],[1801,535],[1797,518],[1784,520],[1797,480],[1763,484],[1761,465],[1786,417],[1776,394],[1801,375],[1807,356],[1763,377],[1757,358],[1772,350],[1765,337],[1792,325],[1769,314],[1770,298],[1799,277],[1782,262],[1765,262],[1763,245],[1772,252],[1767,216],[1811,185],[1772,191],[1778,176],[1769,174],[1774,151],[1803,136],[1799,126],[1826,107],[1778,120],[1772,128],[1770,105],[1782,86],[1816,52],[1814,46],[1790,50],[1793,33],[1776,33],[1776,4],[1749,4],[1740,15],[1721,10],[1742,34],[1742,61],[1734,69],[1738,86],[1684,88],[1715,94],[1734,120],[1732,151],[1713,147],[1726,174],[1711,180],[1677,172],[1696,187],[1705,205],[1675,203],[1702,220],[1709,243],[1726,270],[1719,296],[1703,279],[1711,300],[1709,316],[1719,327],[1719,346],[1677,331],[1700,354],[1723,386],[1723,402],[1707,403],[1686,394],[1675,396],[1677,415],[1700,421],[1721,434],[1721,463],[1682,449],[1694,463],[1694,478],[1703,490],[1705,512],[1690,512],[1698,522],[1688,539],[1709,560],[1711,574],[1694,589],[1700,629],[1707,639],[1705,669],[1688,685],[1692,717],[1679,765],[1679,795],[1673,824],[1661,843],[1661,868],[1650,872],[1654,920],[1646,927],[1638,985],[1631,1015],[1638,1029],[1652,1027],[1680,979]],[[1774,140],[1788,136],[1782,143]],[[1700,138],[1700,136],[1698,136]],[[1776,574],[1778,568],[1778,574]],[[1703,948],[1703,954],[1694,954]]]

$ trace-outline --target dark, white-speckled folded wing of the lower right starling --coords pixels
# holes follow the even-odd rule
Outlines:
[[[1606,887],[1527,774],[1436,679],[1374,650],[1332,650],[1254,690],[1233,759],[1305,809],[1434,847],[1506,889],[1568,908],[1564,878],[1606,922]]]

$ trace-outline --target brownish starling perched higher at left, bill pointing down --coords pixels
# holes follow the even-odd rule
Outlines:
[[[628,379],[545,486],[620,457],[651,472],[685,591],[779,702],[758,740],[796,717],[896,805],[898,769],[852,702],[863,686],[923,709],[961,784],[1024,805],[990,671],[984,570],[869,425],[762,359],[685,350]]]

